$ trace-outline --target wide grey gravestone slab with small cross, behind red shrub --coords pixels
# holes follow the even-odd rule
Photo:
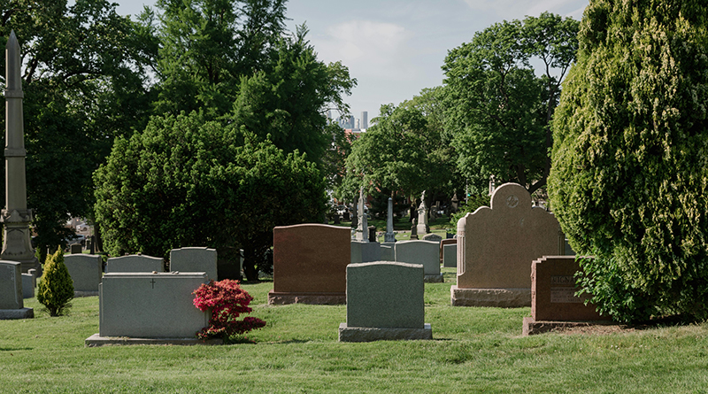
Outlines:
[[[193,338],[209,325],[192,292],[204,273],[110,273],[101,282],[99,336]]]

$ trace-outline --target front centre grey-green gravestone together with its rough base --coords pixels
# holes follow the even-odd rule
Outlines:
[[[347,267],[347,322],[340,342],[432,339],[425,323],[423,267],[398,262]]]

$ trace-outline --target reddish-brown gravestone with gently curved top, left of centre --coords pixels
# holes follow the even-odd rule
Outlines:
[[[273,290],[268,304],[344,304],[350,229],[324,224],[273,228]]]

